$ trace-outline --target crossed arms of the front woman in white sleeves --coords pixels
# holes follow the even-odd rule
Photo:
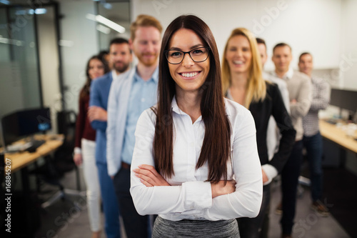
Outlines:
[[[249,112],[248,112],[249,113]],[[261,166],[256,149],[253,116],[240,118],[233,140],[232,168],[235,181],[211,184],[204,181],[174,182],[170,186],[154,169],[152,142],[155,119],[148,111],[136,127],[131,163],[131,197],[139,214],[166,214],[172,219],[192,217],[218,220],[256,217],[261,205]],[[238,121],[238,120],[237,120]],[[234,127],[234,125],[232,125]],[[175,179],[174,179],[175,180]]]

